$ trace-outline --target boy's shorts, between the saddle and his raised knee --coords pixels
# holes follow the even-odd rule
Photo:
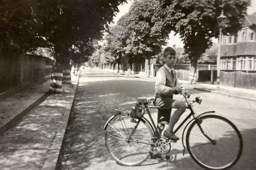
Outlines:
[[[161,107],[171,107],[174,101],[175,100],[171,98],[159,97],[159,98],[156,98],[154,105],[161,106]],[[170,122],[170,117],[171,117],[171,108],[168,110],[158,109],[157,123],[168,125]]]

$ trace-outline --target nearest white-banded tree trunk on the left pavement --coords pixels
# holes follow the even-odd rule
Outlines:
[[[63,66],[60,62],[54,60],[53,71],[51,77],[51,84],[48,93],[61,94],[62,93],[62,79],[63,79]]]

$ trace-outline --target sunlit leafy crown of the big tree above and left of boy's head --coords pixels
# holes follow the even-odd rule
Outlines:
[[[121,57],[138,61],[161,52],[162,46],[167,44],[168,32],[159,18],[159,7],[155,0],[135,1],[129,12],[111,28],[106,36],[105,51],[116,63]]]

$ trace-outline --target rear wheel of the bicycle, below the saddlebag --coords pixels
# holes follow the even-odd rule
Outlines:
[[[118,116],[108,125],[105,144],[111,157],[118,164],[136,166],[146,161],[150,155],[152,146],[146,143],[153,142],[153,132],[145,118],[142,118],[130,138],[145,143],[127,141],[136,124],[131,122],[130,116]]]

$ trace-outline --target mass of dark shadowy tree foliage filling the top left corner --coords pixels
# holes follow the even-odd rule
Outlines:
[[[86,57],[91,54],[91,43],[102,39],[124,2],[2,0],[0,50],[24,53],[52,46],[54,57],[61,61],[69,58],[69,49],[75,45]]]

